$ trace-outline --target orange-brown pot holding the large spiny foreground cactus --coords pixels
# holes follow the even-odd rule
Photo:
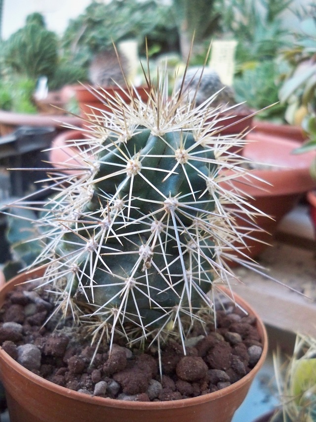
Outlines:
[[[37,276],[39,271],[35,271]],[[0,304],[14,285],[26,280],[22,274],[0,290]],[[227,290],[227,293],[230,292]],[[91,397],[53,384],[33,374],[0,348],[0,376],[3,382],[11,422],[230,422],[244,400],[250,384],[262,367],[268,350],[267,332],[260,317],[240,297],[246,311],[257,318],[263,340],[258,364],[236,383],[203,396],[166,402],[127,402]]]

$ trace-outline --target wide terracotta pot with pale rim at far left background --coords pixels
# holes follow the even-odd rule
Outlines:
[[[63,125],[79,126],[80,123],[79,117],[64,114],[23,114],[0,110],[0,136],[14,132],[19,126],[53,126],[58,131],[64,131]]]

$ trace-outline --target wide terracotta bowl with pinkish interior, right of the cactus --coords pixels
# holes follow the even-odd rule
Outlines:
[[[304,193],[316,186],[316,182],[310,176],[310,165],[316,156],[315,151],[305,154],[292,154],[298,147],[298,141],[259,132],[252,132],[247,136],[252,140],[245,145],[243,156],[260,163],[269,163],[279,166],[278,169],[267,168],[253,170],[252,174],[268,182],[256,180],[243,180],[245,183],[234,182],[235,186],[242,189],[251,198],[247,199],[249,205],[256,207],[272,218],[258,216],[257,226],[264,232],[254,232],[255,239],[246,239],[249,248],[247,255],[256,257],[266,246],[271,243],[280,220],[297,204]],[[240,179],[241,181],[242,179]],[[223,184],[226,188],[228,185]],[[245,227],[245,232],[253,233],[253,223],[245,223],[239,220],[239,225]],[[250,229],[249,229],[250,228]]]

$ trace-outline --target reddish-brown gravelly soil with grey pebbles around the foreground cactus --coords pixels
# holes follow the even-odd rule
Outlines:
[[[0,344],[21,365],[49,381],[85,394],[133,401],[164,401],[196,397],[224,388],[257,363],[262,345],[253,317],[232,305],[217,311],[217,328],[195,329],[183,348],[170,340],[161,350],[144,353],[114,344],[90,344],[85,328],[71,319],[53,317],[42,327],[53,305],[47,292],[18,286],[0,312]],[[56,328],[57,325],[57,328]],[[80,333],[80,334],[79,334]]]

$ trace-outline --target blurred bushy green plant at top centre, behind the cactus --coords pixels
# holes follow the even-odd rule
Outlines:
[[[73,62],[87,68],[92,57],[113,48],[113,43],[138,41],[150,54],[178,48],[178,34],[170,5],[155,0],[113,0],[108,4],[92,1],[76,19],[69,22],[62,45]]]

